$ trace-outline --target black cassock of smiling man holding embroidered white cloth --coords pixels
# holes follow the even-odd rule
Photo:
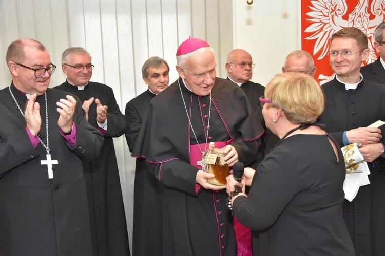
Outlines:
[[[385,86],[363,80],[356,90],[345,90],[345,85],[334,80],[323,84],[325,110],[319,121],[340,146],[342,133],[366,127],[377,120],[385,120]],[[385,141],[385,129],[381,141]],[[377,159],[376,161],[380,161]],[[385,252],[385,172],[379,172],[375,163],[368,163],[369,185],[361,186],[352,202],[344,200],[343,216],[356,249],[356,255],[382,255]]]

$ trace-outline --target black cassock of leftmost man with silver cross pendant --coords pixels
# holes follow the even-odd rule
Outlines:
[[[24,110],[26,96],[12,85]],[[0,255],[93,255],[86,184],[80,158],[98,156],[103,136],[86,122],[76,105],[76,144],[68,143],[57,126],[56,102],[68,93],[47,89],[48,138],[53,179],[48,179],[46,150],[33,148],[9,88],[0,91]],[[45,96],[37,96],[42,117],[38,136],[47,144]]]

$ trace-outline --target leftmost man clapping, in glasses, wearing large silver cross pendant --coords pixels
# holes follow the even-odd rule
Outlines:
[[[97,158],[101,133],[73,94],[48,88],[56,66],[32,39],[8,47],[0,90],[0,255],[91,256],[81,159]]]

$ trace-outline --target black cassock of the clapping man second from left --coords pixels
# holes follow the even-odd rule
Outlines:
[[[107,131],[99,157],[83,161],[90,209],[91,233],[94,255],[129,255],[127,223],[122,189],[113,139],[127,130],[127,118],[120,112],[110,87],[102,83],[88,82],[84,90],[68,81],[54,89],[75,94],[83,102],[91,97],[107,105]],[[88,122],[97,124],[96,103],[88,111]]]

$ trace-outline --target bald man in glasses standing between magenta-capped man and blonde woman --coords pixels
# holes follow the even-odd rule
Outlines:
[[[262,116],[262,107],[259,102],[259,97],[263,96],[265,87],[259,83],[250,81],[253,76],[252,56],[243,49],[234,49],[227,54],[226,70],[227,79],[235,82],[246,94],[246,97],[257,115],[258,120],[265,127],[265,122]],[[258,164],[263,159],[265,151],[265,143],[263,142],[264,135],[261,136],[261,145],[258,148],[258,153],[250,162],[245,163],[247,167],[257,168]]]

